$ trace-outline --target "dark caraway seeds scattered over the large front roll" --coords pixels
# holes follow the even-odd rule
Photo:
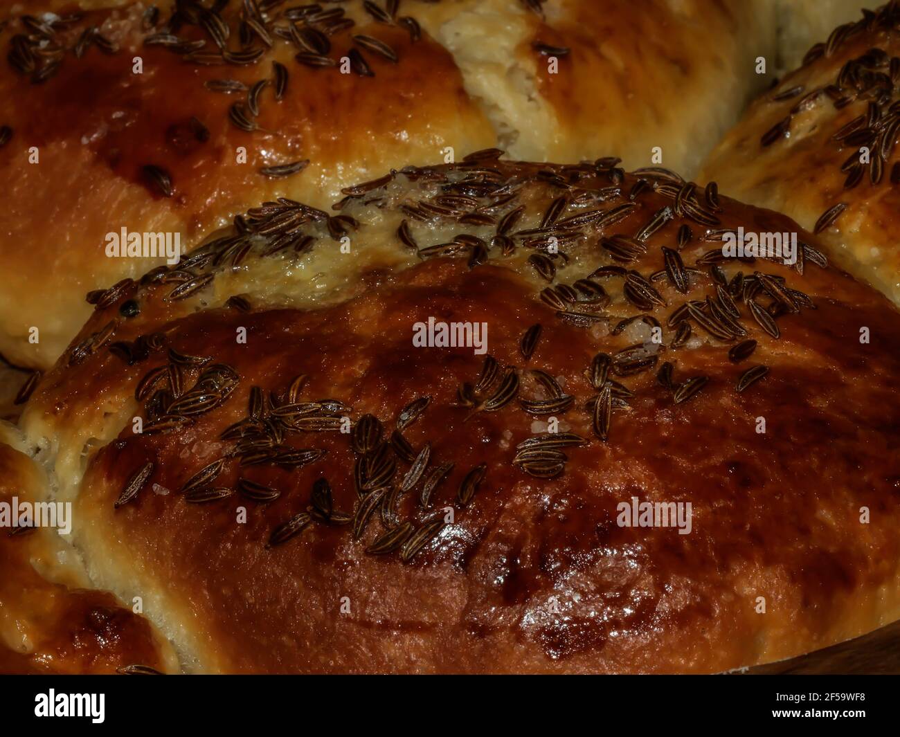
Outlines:
[[[79,364],[106,347],[121,361],[139,364],[149,355],[167,350],[166,364],[145,373],[135,391],[146,418],[143,432],[168,433],[193,423],[199,416],[220,407],[234,391],[240,377],[233,367],[217,363],[212,357],[184,355],[173,346],[166,346],[166,337],[162,333],[144,335],[134,341],[113,341],[121,321],[139,312],[142,288],[164,286],[163,299],[177,302],[202,292],[218,272],[238,267],[250,255],[302,256],[320,239],[338,241],[359,227],[355,218],[341,214],[351,202],[375,208],[396,206],[403,215],[396,232],[398,247],[413,250],[423,260],[464,258],[469,268],[477,268],[493,258],[511,256],[521,248],[531,251],[525,263],[534,269],[538,281],[547,283],[536,293],[536,298],[553,308],[556,319],[578,328],[588,329],[599,321],[608,322],[604,310],[613,301],[603,286],[608,280],[621,283],[621,299],[635,310],[634,315],[609,323],[612,335],[621,334],[636,320],[660,328],[661,322],[653,312],[668,306],[668,302],[657,285],[668,282],[685,295],[685,301],[666,319],[666,325],[672,331],[669,349],[684,347],[694,331],[700,330],[707,339],[729,346],[728,358],[735,364],[741,363],[750,358],[757,345],[750,337],[750,325],[778,338],[779,317],[815,309],[815,304],[804,292],[789,287],[784,277],[778,274],[757,270],[727,277],[721,266],[726,260],[721,247],[708,250],[693,265],[684,263],[680,254],[683,247],[695,239],[709,241],[710,245],[720,244],[729,232],[729,229],[719,227],[716,213],[722,208],[715,184],[699,189],[696,184],[659,167],[637,170],[634,176],[626,176],[617,166],[618,159],[611,157],[572,166],[507,168],[509,165],[499,161],[501,154],[498,149],[486,149],[454,165],[408,166],[377,180],[347,187],[344,200],[334,205],[337,214],[286,198],[265,202],[238,215],[231,234],[199,247],[180,264],[159,266],[145,274],[140,282],[126,279],[108,290],[88,294],[88,301],[98,310],[119,304],[119,314],[73,346],[64,360],[70,365]],[[416,199],[413,188],[402,196],[401,202],[391,205],[395,195],[389,193],[389,188],[398,177],[418,183],[423,190],[428,189],[434,194]],[[585,184],[588,179],[592,180],[591,184]],[[594,184],[598,179],[599,185]],[[548,187],[558,196],[553,198],[537,227],[518,229],[525,211],[525,205],[519,202],[520,195],[532,185]],[[599,238],[600,253],[607,255],[610,263],[571,284],[557,280],[569,260],[565,254],[567,246],[585,241],[594,229],[602,228],[604,233],[609,233],[611,226],[633,211],[642,194],[646,193],[662,194],[669,204],[653,212],[634,235],[619,233]],[[572,214],[569,214],[570,208]],[[661,268],[651,274],[640,274],[629,268],[632,262],[647,254],[647,240],[653,233],[676,218],[686,221],[680,224],[672,247],[661,247]],[[428,227],[455,223],[468,226],[468,229],[489,228],[493,229],[494,235],[485,239],[464,232],[451,242],[422,247],[414,237],[414,223]],[[423,230],[427,232],[428,227]],[[698,230],[697,234],[695,230]],[[759,259],[747,256],[739,260],[752,265]],[[815,247],[804,243],[800,244],[794,268],[802,273],[807,264],[824,268],[827,262]],[[689,299],[689,292],[697,288],[700,277],[707,274],[714,292],[702,300]],[[250,295],[245,294],[230,297],[225,305],[232,310],[253,309]],[[539,350],[543,330],[540,324],[523,326],[520,343],[523,363]],[[626,377],[655,370],[658,382],[671,391],[674,404],[697,396],[710,381],[705,375],[676,379],[673,364],[660,364],[660,352],[641,343],[614,354],[594,356],[585,372],[595,394],[586,405],[576,407],[575,398],[563,391],[554,376],[540,370],[529,373],[543,388],[546,398],[520,396],[520,379],[526,370],[502,366],[493,356],[487,355],[481,373],[473,377],[472,382],[459,386],[456,401],[459,406],[468,408],[471,415],[495,412],[513,402],[536,418],[579,409],[589,413],[594,435],[606,441],[611,427],[615,429],[612,422],[615,413],[626,410],[628,400],[634,396],[621,381]],[[741,374],[735,391],[745,391],[768,371],[765,365],[752,365]],[[233,494],[260,503],[278,498],[278,490],[243,479],[234,485],[235,488],[217,486],[215,480],[229,458],[237,459],[241,466],[268,463],[288,469],[320,460],[322,450],[295,448],[284,442],[285,436],[300,434],[308,437],[319,432],[339,432],[342,418],[351,415],[352,408],[338,399],[302,398],[305,381],[306,377],[298,376],[282,390],[252,387],[247,417],[222,435],[223,440],[234,443],[233,449],[184,482],[181,489],[184,500],[210,503]],[[354,538],[358,539],[377,513],[382,520],[383,533],[366,549],[368,553],[396,552],[403,560],[410,560],[418,553],[440,533],[446,524],[445,514],[433,510],[419,524],[409,519],[401,520],[397,516],[398,499],[401,495],[416,493],[420,508],[428,512],[434,491],[453,469],[453,463],[437,463],[432,459],[430,445],[416,449],[403,436],[403,429],[427,410],[430,401],[430,397],[421,397],[401,409],[390,435],[380,419],[371,415],[357,418],[350,435],[356,454],[356,508],[334,508],[329,483],[320,479],[313,487],[309,507],[275,527],[267,544],[283,544],[314,523],[351,526]],[[545,432],[520,442],[511,462],[529,476],[553,479],[564,472],[565,449],[588,442],[588,438],[572,432]],[[399,463],[407,464],[408,470],[398,480]],[[148,484],[153,471],[153,463],[137,469],[122,490],[117,506],[135,499]],[[472,501],[488,471],[482,464],[467,472],[455,496],[459,508],[465,508]]]

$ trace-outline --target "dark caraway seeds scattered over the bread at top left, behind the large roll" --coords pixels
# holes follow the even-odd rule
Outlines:
[[[543,15],[543,0],[522,0],[531,11]],[[400,14],[400,0],[388,0],[382,6],[373,0],[363,0],[365,13],[376,23],[396,25],[409,32],[410,40],[422,36],[419,22],[410,15]],[[286,0],[241,0],[237,13],[223,13],[229,9],[230,0],[215,0],[209,7],[198,0],[177,0],[168,18],[163,19],[156,5],[150,5],[143,14],[141,26],[146,34],[146,46],[171,51],[186,63],[201,67],[249,67],[258,65],[276,42],[292,44],[294,58],[305,67],[316,69],[337,68],[340,59],[347,58],[350,71],[357,76],[372,77],[375,72],[365,54],[386,59],[392,64],[400,61],[396,49],[384,40],[365,33],[351,33],[349,49],[332,49],[332,37],[353,29],[356,22],[347,17],[338,0],[286,7]],[[234,3],[235,6],[238,2]],[[14,33],[10,40],[7,60],[14,70],[28,76],[32,84],[46,82],[58,73],[67,55],[80,59],[91,46],[106,54],[115,54],[119,46],[103,35],[101,29],[85,23],[85,13],[69,13],[63,16],[20,16],[22,32]],[[231,22],[229,22],[231,21]],[[78,29],[80,26],[84,26]],[[192,38],[185,37],[185,31]],[[200,35],[200,38],[193,38]],[[564,57],[569,49],[553,47],[536,41],[537,53]],[[287,94],[290,72],[284,64],[273,61],[272,71],[247,85],[223,76],[204,83],[207,90],[240,96],[242,99],[229,107],[229,121],[247,132],[256,130],[272,133],[259,126],[257,117],[263,94],[272,88],[276,103]],[[197,118],[191,119],[193,136],[205,143],[210,131]],[[13,137],[13,129],[0,126],[0,147]],[[259,173],[271,179],[292,176],[302,172],[309,159],[288,161],[272,166],[262,166]],[[141,166],[141,175],[148,187],[164,197],[175,195],[176,187],[171,172],[161,162]]]

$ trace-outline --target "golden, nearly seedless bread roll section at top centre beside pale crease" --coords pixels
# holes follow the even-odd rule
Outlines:
[[[655,163],[693,174],[763,84],[754,59],[776,45],[769,0],[552,0],[542,13],[522,12],[527,5],[438,3],[421,15],[515,158],[579,161],[615,150],[637,167],[659,147]],[[554,49],[563,53],[551,73]]]

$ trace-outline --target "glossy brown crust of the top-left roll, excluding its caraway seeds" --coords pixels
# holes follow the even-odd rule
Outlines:
[[[390,44],[403,63],[371,55],[373,78],[303,65],[280,39],[255,64],[207,66],[148,44],[164,29],[162,20],[145,26],[144,10],[132,4],[86,13],[59,31],[68,47],[96,26],[119,50],[104,53],[94,44],[81,58],[67,53],[41,84],[8,64],[0,68],[0,94],[16,101],[2,121],[12,139],[0,148],[9,184],[0,250],[16,275],[0,295],[0,352],[16,363],[40,368],[56,359],[87,318],[85,292],[165,263],[165,256],[107,257],[108,233],[177,233],[186,251],[248,202],[287,195],[323,205],[342,186],[432,161],[446,146],[492,145],[491,126],[465,94],[453,58],[428,37],[414,43],[399,27],[364,22],[330,38],[336,58],[353,46],[352,33]],[[21,21],[10,23],[0,34],[3,48],[21,31]],[[202,39],[204,31],[185,25],[179,38]],[[274,83],[267,85],[257,116],[245,111],[246,93],[204,87],[222,78],[245,89],[274,80],[275,62],[289,69],[288,86],[278,101]],[[272,132],[238,127],[229,118],[235,104],[250,124]],[[260,172],[304,161],[309,165],[287,178]],[[145,166],[162,169],[169,186],[161,188]],[[38,343],[28,340],[32,327],[40,328]]]

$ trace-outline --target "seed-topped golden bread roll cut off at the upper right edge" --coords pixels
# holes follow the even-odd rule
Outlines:
[[[900,5],[840,26],[752,103],[703,168],[734,197],[821,231],[838,265],[900,301]]]

